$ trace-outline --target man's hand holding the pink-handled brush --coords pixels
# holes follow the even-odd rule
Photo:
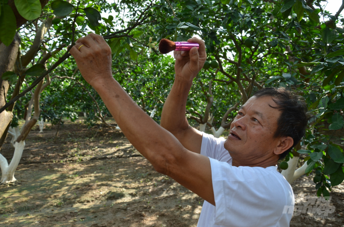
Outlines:
[[[205,44],[204,41],[193,37],[188,39],[188,42],[197,42],[199,49],[193,47],[190,51],[174,51],[176,59],[175,71],[176,79],[185,81],[192,81],[203,68],[206,60]]]

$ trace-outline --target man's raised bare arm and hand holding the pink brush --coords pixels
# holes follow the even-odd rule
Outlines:
[[[202,40],[194,37],[188,41],[199,43],[199,49],[174,52],[176,78],[163,106],[160,125],[172,133],[186,149],[200,153],[202,133],[189,125],[185,109],[192,80],[202,69],[206,53]]]

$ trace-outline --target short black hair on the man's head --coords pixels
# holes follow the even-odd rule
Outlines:
[[[299,96],[284,87],[263,88],[255,92],[254,96],[257,98],[262,96],[271,96],[277,106],[269,105],[272,108],[276,108],[281,111],[281,115],[277,120],[277,130],[274,137],[290,136],[294,140],[293,145],[279,155],[279,160],[281,160],[305,135],[308,121],[311,118],[307,104],[302,96]]]

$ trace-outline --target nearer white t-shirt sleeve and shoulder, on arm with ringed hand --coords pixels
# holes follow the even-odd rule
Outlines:
[[[209,159],[216,204],[214,224],[276,226],[288,193],[276,184],[275,174],[262,167],[236,167]]]

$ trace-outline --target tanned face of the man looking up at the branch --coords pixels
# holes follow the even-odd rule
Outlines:
[[[269,104],[277,106],[270,96],[252,96],[239,109],[224,144],[233,158],[252,162],[257,157],[274,155],[278,143],[274,134],[281,112]]]

